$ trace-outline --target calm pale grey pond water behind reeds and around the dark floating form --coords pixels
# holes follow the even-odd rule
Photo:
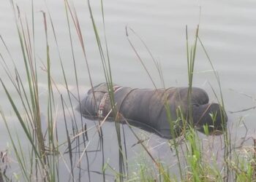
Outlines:
[[[25,15],[31,25],[31,1],[17,0],[16,1],[20,15],[24,18]],[[60,0],[46,1],[50,15],[53,18],[53,25],[56,28],[57,39],[61,58],[64,62],[64,69],[67,71],[69,87],[77,95],[75,89],[75,74],[72,63],[72,52],[69,43],[69,32],[67,27],[67,18],[65,15],[64,2]],[[102,71],[99,50],[97,41],[94,36],[91,18],[86,1],[75,1],[75,9],[80,20],[81,30],[84,36],[86,55],[89,60],[91,69],[92,81],[94,84],[105,82]],[[98,31],[102,41],[104,40],[104,28],[102,24],[102,15],[100,1],[91,1],[91,6],[94,12]],[[244,136],[244,127],[239,127],[238,120],[244,116],[244,122],[249,126],[248,135],[255,136],[256,129],[256,113],[255,109],[248,111],[230,114],[230,111],[241,111],[246,108],[251,108],[256,105],[256,3],[252,0],[233,0],[233,1],[191,1],[191,0],[109,0],[104,1],[105,10],[105,32],[108,41],[108,50],[110,54],[111,70],[113,74],[113,82],[127,87],[153,88],[151,80],[148,78],[146,71],[143,70],[137,55],[129,45],[126,35],[126,27],[132,28],[135,33],[140,36],[151,50],[159,63],[162,66],[162,72],[165,78],[165,87],[183,87],[187,86],[187,52],[186,52],[186,25],[188,27],[189,42],[195,36],[195,29],[200,23],[199,36],[203,41],[204,47],[211,58],[214,68],[219,73],[222,93],[225,101],[225,108],[229,117],[229,126],[232,135],[238,135],[237,138]],[[34,2],[34,22],[35,22],[35,44],[38,61],[38,76],[39,76],[39,92],[42,105],[42,116],[46,115],[47,111],[47,74],[42,71],[42,60],[45,63],[45,32],[41,10],[47,12],[45,1],[37,0]],[[15,19],[12,12],[10,2],[8,0],[1,1],[0,4],[0,34],[6,42],[11,52],[12,58],[18,67],[22,76],[25,75],[18,33],[15,28]],[[50,28],[49,28],[50,30]],[[135,46],[140,58],[145,62],[148,71],[157,84],[157,87],[162,87],[158,77],[154,63],[151,61],[151,56],[143,46],[142,42],[135,36],[135,33],[129,31],[129,39]],[[86,70],[86,62],[83,57],[78,36],[75,29],[72,28],[75,60],[78,68],[78,81],[80,85],[80,93],[83,94],[90,87],[89,76]],[[50,59],[51,59],[51,74],[56,84],[59,86],[62,94],[65,96],[65,90],[61,87],[64,84],[61,73],[59,57],[56,53],[56,47],[53,34],[50,33]],[[5,60],[10,58],[3,44],[0,44],[0,53]],[[10,68],[13,68],[10,63]],[[12,70],[13,71],[13,70]],[[15,90],[8,81],[7,75],[1,68],[0,77],[10,92],[12,98],[18,100],[18,95],[15,95]],[[193,82],[195,87],[201,87],[208,92],[210,100],[217,102],[214,92],[219,96],[219,87],[217,80],[212,71],[211,65],[208,62],[206,54],[202,47],[198,44],[195,77]],[[57,96],[58,98],[59,96]],[[0,89],[0,106],[4,111],[7,120],[17,123],[15,114],[8,103],[7,96],[4,90]],[[73,100],[74,105],[75,99]],[[61,111],[61,109],[59,109]],[[78,114],[79,115],[79,114]],[[59,125],[64,126],[61,116],[57,120]],[[93,126],[94,122],[84,119],[89,126]],[[237,129],[233,130],[233,126]],[[18,132],[21,132],[18,124],[15,124]],[[128,157],[130,159],[138,159],[141,151],[140,147],[131,147],[136,143],[135,137],[129,131],[127,126],[124,126],[127,136],[127,146],[129,146]],[[135,129],[137,130],[137,129]],[[113,123],[106,122],[103,127],[105,135],[105,159],[115,167],[118,166],[118,149],[116,142],[116,129]],[[140,133],[140,131],[138,130]],[[21,133],[20,133],[21,134]],[[91,134],[93,135],[93,134]],[[148,145],[154,150],[155,155],[162,155],[162,159],[168,159],[170,152],[167,152],[168,146],[165,139],[155,135],[145,134],[151,137]],[[205,136],[202,136],[205,137]],[[6,128],[2,119],[0,119],[0,150],[7,148],[9,141]],[[4,138],[4,140],[3,140]],[[26,138],[22,138],[25,142]],[[97,141],[97,139],[95,139]],[[108,141],[111,141],[108,143]],[[91,144],[92,148],[96,145]],[[106,144],[108,143],[108,144]],[[156,146],[154,148],[154,146]],[[140,152],[139,152],[140,151]],[[95,154],[92,154],[94,156]],[[92,159],[91,167],[93,170],[99,170],[99,161],[97,157]],[[168,159],[170,164],[171,160]],[[135,160],[136,161],[136,160]],[[135,162],[133,163],[135,165]],[[86,178],[88,177],[87,174]],[[98,173],[93,174],[94,179],[101,179]],[[109,177],[110,179],[112,177]]]

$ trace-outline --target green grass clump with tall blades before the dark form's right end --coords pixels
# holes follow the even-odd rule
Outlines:
[[[225,138],[225,159],[228,155],[228,152],[230,150],[229,147],[230,145],[228,143],[230,143],[230,139],[228,138],[228,131],[226,130],[225,127],[225,108],[224,108],[224,101],[223,101],[223,95],[222,95],[222,87],[219,81],[219,76],[217,74],[217,71],[215,71],[213,64],[211,63],[211,59],[208,56],[208,53],[206,51],[206,48],[203,46],[203,42],[200,40],[199,36],[198,36],[198,31],[199,31],[199,25],[197,26],[197,30],[195,33],[195,42],[191,48],[191,50],[189,51],[189,44],[188,44],[188,33],[187,33],[187,27],[186,27],[186,37],[187,37],[187,65],[188,65],[188,76],[189,76],[189,92],[188,92],[188,102],[189,102],[189,119],[192,119],[192,103],[191,103],[191,93],[192,93],[192,82],[193,82],[193,74],[194,74],[194,66],[195,66],[195,54],[196,54],[196,49],[197,49],[197,40],[200,42],[201,47],[203,47],[204,52],[206,53],[206,56],[208,58],[209,63],[211,64],[211,68],[214,70],[214,75],[217,79],[217,82],[219,84],[219,92],[220,92],[220,97],[221,97],[221,102],[219,102],[219,99],[217,97],[217,93],[214,91],[214,89],[212,88],[215,97],[217,98],[217,101],[219,103],[221,107],[221,122],[222,122],[222,132],[224,133],[224,138]],[[216,114],[214,116],[214,114],[211,114],[211,119],[213,120],[213,122],[215,122],[216,120]],[[190,120],[189,122],[192,122],[192,120]],[[203,130],[205,131],[206,135],[208,135],[209,131],[208,131],[208,127],[211,126],[203,126]],[[189,143],[190,146],[190,153],[187,154],[187,156],[191,156],[192,159],[188,159],[188,165],[190,167],[192,167],[192,176],[194,178],[193,181],[201,181],[202,179],[200,179],[200,175],[202,176],[203,173],[214,173],[215,174],[215,178],[219,177],[220,178],[220,172],[218,171],[218,169],[215,167],[214,169],[210,166],[205,166],[203,165],[203,159],[201,156],[202,151],[200,151],[200,146],[197,146],[195,144],[195,142],[199,142],[200,139],[197,138],[197,134],[195,133],[194,130],[192,130],[192,128],[189,129],[189,132],[187,132],[188,135],[185,135],[186,137],[189,136],[189,138],[187,138],[187,142]],[[187,151],[189,147],[187,146]],[[197,163],[197,165],[196,165]],[[226,162],[225,162],[226,163]],[[227,164],[227,163],[226,163]],[[200,168],[197,168],[200,167]],[[211,171],[211,173],[209,173],[209,171]],[[229,169],[227,167],[227,165],[225,165],[225,180],[229,181]],[[220,179],[219,179],[220,180]]]

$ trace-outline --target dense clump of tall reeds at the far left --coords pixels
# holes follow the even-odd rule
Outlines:
[[[32,2],[32,21],[34,22],[34,7]],[[27,181],[32,181],[34,176],[35,178],[42,178],[43,181],[53,181],[58,174],[58,158],[55,157],[54,153],[58,148],[56,148],[56,143],[58,143],[58,138],[54,138],[55,121],[53,120],[53,112],[55,108],[54,98],[53,98],[53,90],[50,80],[50,54],[49,54],[49,44],[48,44],[48,29],[47,22],[45,17],[45,12],[42,12],[44,27],[45,27],[45,42],[46,42],[46,60],[47,60],[47,74],[48,74],[48,144],[45,144],[45,136],[42,131],[42,120],[40,116],[40,106],[39,106],[39,91],[38,91],[38,78],[37,78],[37,62],[34,59],[34,49],[32,46],[32,42],[34,42],[34,23],[32,23],[32,31],[33,36],[31,36],[30,27],[28,20],[25,17],[25,24],[22,20],[22,15],[20,14],[20,10],[18,5],[15,6],[13,1],[10,1],[12,5],[12,10],[15,15],[15,25],[18,31],[18,38],[20,41],[20,48],[23,55],[23,63],[26,69],[26,79],[28,83],[29,89],[23,83],[23,79],[20,78],[20,74],[15,64],[15,76],[16,78],[12,78],[12,74],[10,72],[10,68],[7,67],[6,61],[1,56],[2,61],[4,62],[4,70],[6,71],[8,77],[12,85],[15,87],[17,94],[21,100],[21,106],[25,111],[26,117],[24,118],[22,112],[19,111],[18,106],[14,100],[12,100],[12,96],[10,92],[7,90],[4,82],[1,80],[2,87],[7,94],[7,98],[10,100],[11,106],[15,111],[16,116],[18,117],[18,121],[23,127],[24,132],[26,133],[26,137],[29,139],[29,143],[31,145],[31,153],[30,155],[30,171],[25,170],[26,167],[23,167],[23,164],[26,165],[25,159],[23,157],[23,149],[20,145],[20,141],[18,140],[18,146],[20,146],[20,153],[15,152],[16,157],[23,159],[19,161],[19,164],[23,169],[23,176],[26,177]],[[17,9],[15,9],[17,7]],[[18,15],[16,14],[18,12]],[[31,38],[32,37],[32,38]],[[7,48],[4,39],[1,39],[4,43],[4,46]],[[34,43],[33,43],[34,44]],[[7,52],[10,51],[7,49]],[[14,63],[14,62],[13,62]],[[6,127],[8,124],[6,123]],[[9,133],[10,137],[11,134]],[[13,141],[13,139],[12,139]],[[12,146],[15,148],[15,143],[12,142]],[[15,150],[17,151],[17,150]],[[49,155],[50,154],[50,155]],[[36,158],[35,160],[33,158]],[[56,170],[57,169],[57,170]],[[39,173],[38,173],[39,172]],[[29,177],[27,177],[29,174]],[[39,175],[39,176],[38,176]]]

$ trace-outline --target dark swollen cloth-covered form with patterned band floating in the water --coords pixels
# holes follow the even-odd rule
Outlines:
[[[78,111],[89,119],[104,118],[111,110],[108,84],[99,84],[93,90],[96,106],[91,89],[82,100],[81,106],[78,106]],[[192,121],[191,126],[200,132],[204,132],[204,125],[208,126],[210,133],[222,132],[227,123],[225,111],[218,103],[208,103],[207,93],[197,87],[192,87],[192,119],[189,119],[188,90],[188,87],[151,90],[113,86],[116,111],[124,116],[129,124],[143,130],[154,132],[163,138],[173,138],[170,133],[170,122],[174,126],[174,135],[177,137],[187,127],[189,121]],[[165,105],[165,103],[168,104]],[[168,113],[171,119],[167,117],[167,110],[170,110]],[[113,117],[113,112],[109,116]],[[187,121],[186,124],[184,120]]]

